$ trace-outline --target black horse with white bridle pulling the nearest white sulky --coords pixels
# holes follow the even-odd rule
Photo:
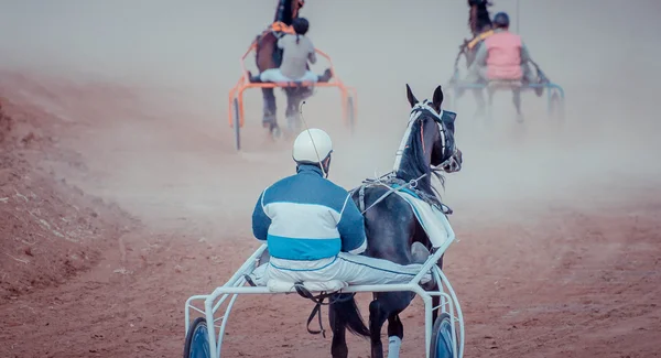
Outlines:
[[[438,171],[447,173],[460,170],[462,152],[454,140],[454,120],[456,115],[441,110],[443,91],[441,86],[434,91],[433,100],[418,101],[407,85],[407,96],[412,106],[409,128],[398,159],[393,176],[380,183],[388,185],[405,184],[415,181],[414,191],[418,196],[432,205],[444,207],[432,185],[432,176],[443,183]],[[401,156],[400,156],[401,155]],[[382,196],[389,192],[386,185],[362,185],[364,198],[360,191],[353,194],[353,199],[365,210],[365,228],[367,234],[368,257],[390,260],[400,264],[412,263],[411,247],[418,241],[427,250],[431,242],[419,224],[409,204],[399,195]],[[380,202],[378,202],[381,198]],[[362,203],[361,203],[362,202]],[[378,203],[377,203],[378,202]],[[376,203],[376,205],[375,205]],[[373,206],[372,206],[373,205]],[[371,206],[371,207],[370,207]],[[441,268],[443,258],[437,262]],[[437,283],[431,288],[437,290]],[[351,333],[370,337],[371,357],[383,357],[381,344],[381,327],[388,321],[388,336],[392,339],[403,337],[403,325],[399,314],[404,311],[414,297],[410,292],[375,293],[375,300],[369,305],[369,328],[365,326],[355,300],[348,294],[340,294],[329,306],[329,321],[333,328],[332,354],[334,358],[345,358],[348,355],[346,329]],[[434,307],[438,306],[440,297],[435,296]],[[436,319],[434,311],[433,319]]]

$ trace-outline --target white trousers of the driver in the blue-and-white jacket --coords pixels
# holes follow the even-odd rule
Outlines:
[[[392,261],[340,252],[336,258],[318,261],[293,261],[271,258],[250,275],[254,284],[267,285],[270,279],[285,282],[324,282],[337,280],[350,285],[408,283],[422,264],[398,264]],[[432,280],[431,273],[422,276],[421,284]]]

